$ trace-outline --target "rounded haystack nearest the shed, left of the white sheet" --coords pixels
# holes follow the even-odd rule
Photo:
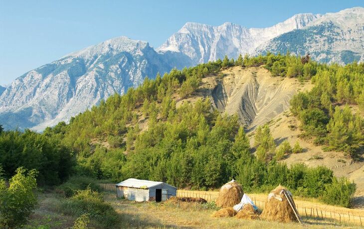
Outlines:
[[[216,206],[220,208],[230,208],[240,203],[244,195],[243,188],[239,183],[232,180],[224,184],[217,195]]]

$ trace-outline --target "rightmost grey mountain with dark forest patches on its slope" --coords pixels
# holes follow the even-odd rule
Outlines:
[[[302,29],[279,35],[253,52],[305,55],[324,63],[364,61],[364,8],[327,13]]]

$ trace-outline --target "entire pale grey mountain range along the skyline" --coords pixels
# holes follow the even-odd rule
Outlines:
[[[118,37],[68,54],[0,88],[0,123],[5,128],[42,130],[123,94],[145,77],[239,54],[305,55],[325,63],[364,60],[364,8],[337,13],[296,14],[268,28],[188,22],[161,47]],[[4,90],[2,93],[1,91]]]

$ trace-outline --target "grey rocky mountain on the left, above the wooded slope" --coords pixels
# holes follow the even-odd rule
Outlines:
[[[147,42],[107,40],[17,78],[0,96],[0,123],[41,130],[171,68]]]

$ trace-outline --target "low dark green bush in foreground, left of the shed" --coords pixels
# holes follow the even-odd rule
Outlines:
[[[75,195],[66,199],[61,211],[70,216],[81,217],[88,214],[97,228],[114,228],[118,215],[109,204],[105,203],[102,194],[91,188],[77,190]]]

